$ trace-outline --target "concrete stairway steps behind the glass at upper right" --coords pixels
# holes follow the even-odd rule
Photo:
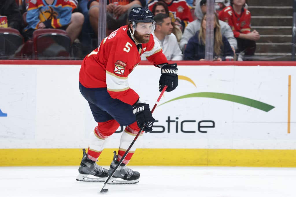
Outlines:
[[[261,35],[253,59],[291,61],[293,1],[248,0],[248,6],[251,27]]]

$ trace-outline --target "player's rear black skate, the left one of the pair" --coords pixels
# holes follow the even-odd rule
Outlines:
[[[76,177],[78,181],[104,182],[108,177],[108,170],[88,159],[85,149],[83,149],[83,157],[78,172],[79,174]]]

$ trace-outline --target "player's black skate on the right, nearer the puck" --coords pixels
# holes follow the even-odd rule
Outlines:
[[[110,165],[110,169],[108,170],[108,176],[111,175],[117,164],[117,155],[116,151],[114,151],[114,157]],[[135,184],[139,183],[139,178],[139,172],[133,171],[132,169],[126,167],[125,164],[121,163],[108,184]]]

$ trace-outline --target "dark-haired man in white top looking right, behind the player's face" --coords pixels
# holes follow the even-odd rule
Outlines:
[[[183,59],[182,52],[179,48],[177,38],[173,31],[173,25],[168,14],[157,14],[154,17],[155,30],[152,33],[154,40],[157,40],[160,47],[163,49],[168,60],[178,61]],[[147,60],[145,57],[141,57],[141,60]]]

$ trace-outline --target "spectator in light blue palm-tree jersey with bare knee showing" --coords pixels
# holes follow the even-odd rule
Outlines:
[[[75,12],[77,6],[74,0],[31,0],[25,27],[25,37],[32,38],[36,29],[57,28],[66,30],[72,42],[78,38],[84,21],[83,14]]]

